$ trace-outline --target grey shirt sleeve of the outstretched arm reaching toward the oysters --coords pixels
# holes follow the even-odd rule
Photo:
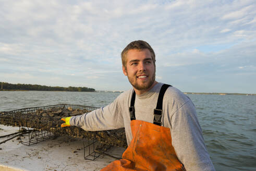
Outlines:
[[[118,96],[119,97],[119,96]],[[111,130],[124,127],[124,119],[117,97],[111,104],[92,112],[70,118],[71,126],[78,126],[86,131]]]

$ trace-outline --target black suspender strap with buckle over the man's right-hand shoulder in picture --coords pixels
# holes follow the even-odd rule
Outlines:
[[[168,84],[163,84],[159,92],[156,108],[154,109],[154,121],[153,124],[162,126],[162,115],[163,115],[163,99],[165,91],[170,87]]]

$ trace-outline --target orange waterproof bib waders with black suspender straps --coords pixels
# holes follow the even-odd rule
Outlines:
[[[130,145],[123,154],[123,159],[114,161],[104,167],[104,170],[185,170],[178,161],[172,145],[170,129],[162,127],[163,96],[169,85],[164,84],[159,93],[156,109],[154,109],[154,124],[135,120],[135,92],[131,99],[131,131]]]

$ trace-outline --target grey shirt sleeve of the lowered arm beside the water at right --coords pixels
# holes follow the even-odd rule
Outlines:
[[[175,111],[171,124],[172,144],[186,170],[214,171],[210,155],[204,144],[196,109],[191,100]]]

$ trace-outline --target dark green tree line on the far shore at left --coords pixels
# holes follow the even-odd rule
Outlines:
[[[95,89],[87,87],[51,87],[41,86],[38,84],[11,84],[8,82],[0,82],[0,90],[35,90],[35,91],[79,91],[79,92],[94,92]]]

